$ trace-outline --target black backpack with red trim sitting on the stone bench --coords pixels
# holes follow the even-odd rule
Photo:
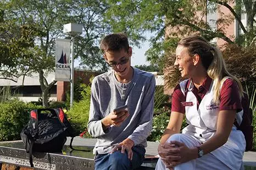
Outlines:
[[[48,111],[48,113],[42,113]],[[62,109],[37,109],[30,112],[30,121],[20,133],[29,153],[30,165],[34,167],[32,152],[62,152],[66,137],[71,137],[70,148],[75,137],[73,128]]]

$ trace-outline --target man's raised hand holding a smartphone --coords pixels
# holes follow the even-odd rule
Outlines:
[[[105,128],[110,127],[112,124],[113,126],[120,126],[128,116],[129,112],[126,109],[116,110],[104,117],[102,119],[102,124]]]

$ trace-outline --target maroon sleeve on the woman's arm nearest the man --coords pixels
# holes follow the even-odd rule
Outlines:
[[[185,101],[185,96],[181,92],[180,84],[178,84],[174,89],[174,93],[172,93],[171,111],[176,111],[185,114],[185,106],[181,105],[182,101]]]

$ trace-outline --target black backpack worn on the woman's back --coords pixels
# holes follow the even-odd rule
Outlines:
[[[247,93],[243,93],[241,104],[243,107],[243,120],[240,126],[237,122],[235,122],[234,124],[236,125],[238,130],[243,132],[244,138],[246,139],[246,151],[248,151],[252,150],[253,146],[253,111],[249,106],[249,98]]]

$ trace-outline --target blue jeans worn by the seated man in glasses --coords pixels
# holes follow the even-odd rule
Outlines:
[[[121,151],[116,151],[113,154],[97,154],[94,160],[95,169],[123,170],[138,168],[144,161],[146,150],[143,146],[133,146],[132,152],[132,160],[128,159],[127,152],[125,154],[122,154]]]

